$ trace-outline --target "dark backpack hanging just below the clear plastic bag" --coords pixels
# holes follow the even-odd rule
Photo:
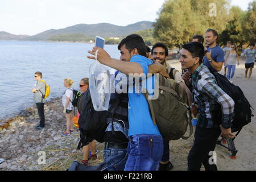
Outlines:
[[[100,143],[104,142],[104,134],[108,126],[107,118],[110,112],[117,108],[120,98],[117,97],[117,99],[111,102],[113,104],[108,111],[96,111],[93,107],[89,89],[85,93],[82,93],[77,107],[80,113],[78,122],[80,142],[77,149],[92,142],[92,140],[97,140]]]

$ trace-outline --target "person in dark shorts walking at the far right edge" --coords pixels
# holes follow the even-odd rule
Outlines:
[[[249,79],[251,78],[251,74],[253,74],[253,68],[254,68],[254,63],[255,63],[255,55],[256,55],[256,51],[254,49],[255,44],[252,43],[250,45],[250,49],[247,49],[245,51],[245,54],[243,57],[246,57],[246,61],[245,61],[245,77],[247,78],[247,73],[250,69],[249,72]]]

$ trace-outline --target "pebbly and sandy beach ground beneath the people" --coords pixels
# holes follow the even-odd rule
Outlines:
[[[180,69],[180,63],[177,60],[171,60],[168,63]],[[237,67],[234,84],[240,86],[251,106],[255,107],[255,73],[251,80],[244,78],[244,63],[245,61],[241,61],[241,65]],[[220,73],[223,74],[223,72],[222,69]],[[9,127],[0,131],[0,158],[5,159],[5,162],[0,164],[0,171],[65,171],[73,161],[81,162],[82,151],[76,149],[80,140],[79,130],[75,129],[69,137],[61,135],[66,125],[61,98],[51,98],[44,107],[46,129],[35,130],[39,115],[34,106],[24,116],[16,115],[16,118],[9,121]],[[253,114],[255,114],[254,110]],[[256,169],[255,122],[256,117],[253,117],[251,123],[246,125],[234,140],[238,150],[236,160],[230,159],[230,151],[216,146],[217,166],[220,171],[254,171]],[[179,139],[170,142],[170,159],[174,164],[172,171],[187,170],[187,156],[192,145],[193,136],[188,140]],[[104,143],[97,143],[96,148],[99,151],[98,159],[89,161],[92,166],[104,161]],[[46,164],[38,163],[39,151],[45,152]]]

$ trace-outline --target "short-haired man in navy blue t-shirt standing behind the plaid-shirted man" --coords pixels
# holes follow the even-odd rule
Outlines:
[[[218,32],[213,29],[208,29],[205,32],[205,43],[207,43],[207,50],[204,56],[204,65],[209,69],[215,69],[220,72],[225,62],[224,51],[217,45]]]

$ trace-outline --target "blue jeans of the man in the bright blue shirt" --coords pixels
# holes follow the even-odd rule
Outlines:
[[[158,135],[133,135],[127,148],[125,171],[156,171],[163,155],[163,138]]]

